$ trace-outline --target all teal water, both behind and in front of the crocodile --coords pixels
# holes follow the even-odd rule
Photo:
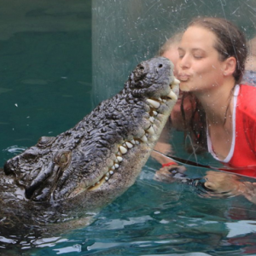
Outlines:
[[[3,166],[39,137],[73,127],[93,108],[95,95],[90,1],[9,1],[0,3],[0,14]],[[256,255],[252,203],[241,196],[206,197],[188,184],[159,183],[153,178],[159,168],[148,160],[131,189],[97,212],[89,226],[40,240],[28,236],[20,244],[15,236],[0,236],[1,246],[8,247],[0,254]],[[187,168],[189,177],[207,171]]]

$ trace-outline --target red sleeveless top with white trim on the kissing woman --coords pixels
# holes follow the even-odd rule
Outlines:
[[[256,177],[256,87],[236,85],[233,110],[233,140],[230,153],[221,162],[239,168],[236,173]],[[208,137],[208,149],[214,158]]]

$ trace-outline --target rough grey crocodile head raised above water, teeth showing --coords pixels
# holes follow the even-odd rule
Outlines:
[[[8,160],[5,175],[30,201],[116,197],[134,183],[170,116],[178,94],[172,71],[166,58],[143,61],[119,94]]]

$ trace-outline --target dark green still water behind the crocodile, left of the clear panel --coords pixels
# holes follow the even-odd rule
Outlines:
[[[90,112],[91,61],[90,1],[0,2],[1,166]]]

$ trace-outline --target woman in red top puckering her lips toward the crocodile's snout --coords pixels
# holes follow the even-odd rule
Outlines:
[[[246,44],[228,20],[192,20],[178,46],[176,68],[180,89],[198,102],[190,122],[195,143],[205,145],[224,165],[239,169],[236,173],[256,177],[256,88],[240,84]],[[256,202],[254,183],[224,172],[208,172],[206,179],[208,189],[242,194]]]

